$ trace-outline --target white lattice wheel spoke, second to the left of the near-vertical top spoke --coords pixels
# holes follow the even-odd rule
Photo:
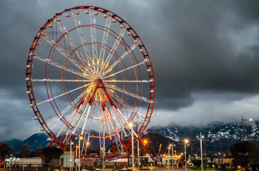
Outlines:
[[[83,55],[81,54],[79,48],[77,48],[78,46],[76,46],[75,41],[73,41],[73,38],[71,38],[68,31],[66,30],[66,27],[62,24],[61,21],[58,21],[57,19],[54,19],[54,21],[56,25],[59,27],[59,30],[64,34],[64,37],[68,41],[68,44],[71,46],[71,48],[73,48],[73,51],[75,51],[76,56],[78,56],[82,63],[86,63],[86,61],[84,61],[83,59]]]

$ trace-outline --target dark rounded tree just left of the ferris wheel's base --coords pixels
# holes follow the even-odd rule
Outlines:
[[[51,160],[59,158],[64,154],[64,151],[58,147],[44,147],[41,152],[45,159],[49,161],[49,164],[51,164]]]

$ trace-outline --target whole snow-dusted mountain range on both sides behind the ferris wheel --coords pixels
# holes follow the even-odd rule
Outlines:
[[[244,128],[244,131],[243,131]],[[258,140],[259,138],[259,122],[254,125],[242,125],[237,123],[210,123],[206,128],[193,126],[169,125],[167,127],[157,126],[148,128],[147,133],[142,136],[142,139],[148,140],[146,147],[153,155],[158,154],[161,144],[161,154],[168,153],[168,144],[173,142],[174,150],[179,154],[184,150],[183,140],[188,138],[187,152],[191,155],[200,154],[200,133],[205,137],[203,139],[203,152],[207,155],[218,155],[218,152],[229,152],[230,145],[243,140]],[[244,134],[243,134],[244,133]],[[97,133],[91,133],[96,134]],[[17,152],[21,145],[29,145],[30,150],[35,150],[37,147],[46,147],[49,145],[46,133],[36,133],[31,135],[24,141],[9,140],[6,143],[11,145]],[[72,140],[76,142],[76,140]],[[107,147],[109,146],[107,140]],[[95,150],[99,143],[98,139],[91,140],[91,149]]]

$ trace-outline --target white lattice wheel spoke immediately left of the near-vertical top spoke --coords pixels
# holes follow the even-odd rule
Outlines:
[[[81,28],[81,21],[79,21],[78,14],[71,12],[72,17],[73,17],[73,22],[76,25],[76,30],[78,32],[78,36],[80,37],[81,45],[83,46],[83,51],[86,54],[86,60],[89,63],[89,59],[92,59],[91,53],[89,51],[87,41],[86,41],[86,36],[83,33],[83,30]]]

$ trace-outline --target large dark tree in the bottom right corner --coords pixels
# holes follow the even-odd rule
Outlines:
[[[259,163],[259,141],[237,142],[230,147],[233,165],[238,167],[248,167],[248,164]]]

